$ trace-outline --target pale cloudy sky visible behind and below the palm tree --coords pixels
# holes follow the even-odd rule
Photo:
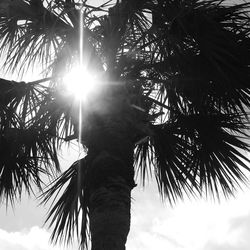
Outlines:
[[[66,168],[75,153],[64,156]],[[173,207],[163,203],[156,185],[138,186],[132,193],[131,231],[128,250],[249,250],[250,190],[238,191],[220,203],[185,199]],[[0,204],[1,250],[73,250],[76,246],[53,246],[43,226],[47,207],[35,197],[23,196],[15,208]]]

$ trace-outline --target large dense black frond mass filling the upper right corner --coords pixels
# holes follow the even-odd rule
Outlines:
[[[127,57],[144,62],[141,72],[161,89],[159,99],[167,96],[166,104],[179,112],[211,106],[245,112],[250,105],[250,5],[157,2],[147,7],[151,27],[133,23],[137,33],[123,49]]]

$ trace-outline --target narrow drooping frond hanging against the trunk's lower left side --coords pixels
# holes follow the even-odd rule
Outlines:
[[[41,196],[43,203],[47,203],[54,197],[46,219],[46,222],[51,220],[50,227],[54,226],[52,241],[70,243],[77,236],[81,247],[87,246],[89,235],[86,171],[88,164],[88,157],[76,161]]]

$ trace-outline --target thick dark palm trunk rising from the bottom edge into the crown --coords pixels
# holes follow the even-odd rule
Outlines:
[[[125,250],[135,187],[131,108],[123,92],[109,91],[112,103],[104,100],[104,113],[89,115],[91,126],[83,135],[92,158],[88,173],[92,250]]]

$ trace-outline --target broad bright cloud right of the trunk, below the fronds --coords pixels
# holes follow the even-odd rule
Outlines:
[[[250,249],[249,190],[220,203],[187,199],[173,208],[153,194],[135,193],[128,249]]]

